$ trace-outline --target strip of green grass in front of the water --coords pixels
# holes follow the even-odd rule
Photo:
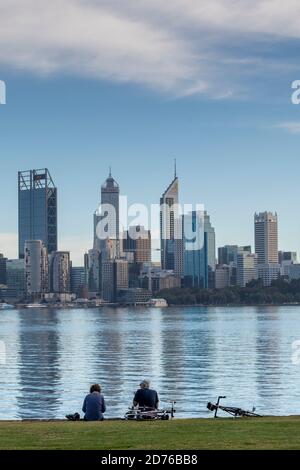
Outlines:
[[[0,449],[300,449],[300,417],[0,422]]]

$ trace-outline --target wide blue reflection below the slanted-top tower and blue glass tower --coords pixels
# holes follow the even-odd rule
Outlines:
[[[207,309],[201,308],[192,314],[172,309],[162,316],[161,395],[165,401],[176,400],[181,412],[192,406],[201,408],[213,380],[214,335],[208,328],[208,315]]]

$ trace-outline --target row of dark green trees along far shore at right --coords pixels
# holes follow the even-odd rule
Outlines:
[[[269,287],[261,279],[246,287],[225,289],[176,288],[164,289],[157,294],[169,305],[282,305],[300,303],[300,279],[287,282],[279,278]]]

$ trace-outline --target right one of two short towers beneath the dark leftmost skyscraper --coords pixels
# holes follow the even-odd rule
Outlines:
[[[50,255],[50,292],[68,294],[71,291],[71,262],[68,251]]]

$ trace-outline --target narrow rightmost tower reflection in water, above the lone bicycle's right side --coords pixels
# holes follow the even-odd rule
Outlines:
[[[283,399],[281,338],[278,307],[258,307],[256,313],[256,388],[265,407]],[[275,392],[276,390],[276,392]]]

